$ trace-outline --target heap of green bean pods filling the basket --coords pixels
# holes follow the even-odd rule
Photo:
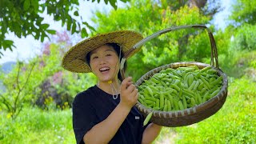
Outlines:
[[[218,94],[222,79],[211,66],[167,68],[138,86],[138,102],[153,110],[185,110]]]

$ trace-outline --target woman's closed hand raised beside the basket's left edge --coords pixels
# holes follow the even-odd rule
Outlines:
[[[125,78],[121,83],[120,104],[131,109],[138,100],[138,89],[131,81],[132,78]]]

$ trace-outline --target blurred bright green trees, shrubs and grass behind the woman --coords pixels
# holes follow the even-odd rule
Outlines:
[[[256,2],[237,0],[232,8],[230,24],[223,30],[211,23],[222,10],[218,0],[130,0],[109,13],[94,11],[94,30],[88,36],[134,30],[146,38],[158,30],[193,24],[206,25],[214,34],[220,68],[229,77],[226,104],[198,124],[164,128],[155,143],[255,142]],[[42,45],[42,54],[29,62],[17,62],[8,73],[1,71],[0,142],[74,143],[71,103],[97,79],[94,74],[63,70],[62,57],[74,41],[71,33],[56,32]],[[128,59],[126,76],[136,82],[155,67],[190,61],[210,64],[206,30],[178,30],[146,42]]]

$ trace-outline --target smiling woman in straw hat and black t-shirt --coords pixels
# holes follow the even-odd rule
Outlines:
[[[121,82],[120,60],[142,35],[115,31],[86,39],[64,56],[62,66],[78,73],[93,72],[98,84],[77,94],[73,102],[73,128],[77,143],[150,143],[162,126],[143,126],[134,106],[138,90],[132,78]],[[118,79],[119,78],[119,79]]]

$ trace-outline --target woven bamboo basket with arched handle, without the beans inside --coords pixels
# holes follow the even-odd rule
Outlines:
[[[176,127],[176,126],[188,126],[197,122],[201,122],[202,120],[209,118],[211,115],[215,114],[218,110],[220,110],[226,102],[227,96],[227,86],[228,81],[226,74],[219,69],[218,66],[218,52],[217,47],[215,44],[214,36],[211,31],[202,25],[191,25],[191,26],[178,26],[172,27],[166,30],[160,30],[155,34],[150,35],[147,38],[142,39],[142,41],[138,42],[134,47],[130,50],[130,52],[136,50],[137,47],[142,46],[145,42],[150,41],[152,38],[156,38],[161,34],[165,34],[170,31],[180,30],[185,28],[198,28],[198,29],[206,29],[208,35],[210,37],[210,44],[211,44],[211,62],[209,64],[201,63],[201,62],[175,62],[170,63],[165,66],[159,66],[154,70],[150,70],[146,74],[144,74],[138,81],[135,83],[136,86],[140,86],[144,80],[149,79],[155,73],[158,73],[160,70],[165,70],[166,68],[173,68],[176,69],[180,66],[198,66],[199,69],[202,69],[206,66],[212,66],[215,70],[218,71],[218,75],[223,77],[222,80],[222,89],[216,94],[213,98],[210,98],[208,101],[201,103],[198,106],[190,107],[186,110],[176,110],[176,111],[160,111],[160,110],[153,110],[143,106],[140,102],[137,102],[135,105],[138,107],[138,110],[146,117],[147,114],[153,112],[153,115],[150,119],[150,122],[154,122],[160,126],[168,126],[168,127]],[[124,58],[122,58],[121,62],[121,74],[122,78],[125,78],[125,73],[123,70],[124,62],[126,58],[128,58],[130,52],[126,53]]]

